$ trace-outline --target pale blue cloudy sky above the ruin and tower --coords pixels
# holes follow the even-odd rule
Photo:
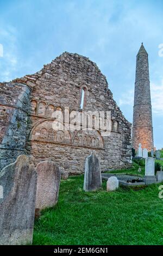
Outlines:
[[[0,0],[0,81],[34,74],[62,52],[96,62],[132,121],[136,54],[149,54],[154,144],[163,147],[162,0]]]

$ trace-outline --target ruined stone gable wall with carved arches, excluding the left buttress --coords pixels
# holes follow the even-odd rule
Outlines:
[[[84,172],[86,157],[95,150],[103,171],[130,166],[131,124],[112,98],[105,76],[89,58],[65,52],[36,74],[12,81],[13,87],[17,84],[30,88],[26,151],[35,165],[54,160],[69,173],[79,174]],[[84,111],[111,111],[109,137],[102,136],[101,130],[53,130],[56,109],[81,111],[83,89]]]

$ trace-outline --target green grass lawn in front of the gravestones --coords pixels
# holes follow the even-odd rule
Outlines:
[[[134,164],[118,173],[137,174]],[[35,221],[34,245],[163,245],[160,184],[106,192],[103,181],[101,190],[84,192],[83,181],[84,175],[61,180],[58,204]]]

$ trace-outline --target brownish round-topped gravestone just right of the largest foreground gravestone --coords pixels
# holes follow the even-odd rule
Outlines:
[[[53,161],[40,162],[37,164],[36,171],[36,208],[42,210],[57,204],[61,172]]]

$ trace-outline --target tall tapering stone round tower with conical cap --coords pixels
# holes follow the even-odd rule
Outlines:
[[[149,82],[148,53],[143,43],[136,56],[136,76],[133,112],[132,147],[148,151],[153,149],[151,91]]]

